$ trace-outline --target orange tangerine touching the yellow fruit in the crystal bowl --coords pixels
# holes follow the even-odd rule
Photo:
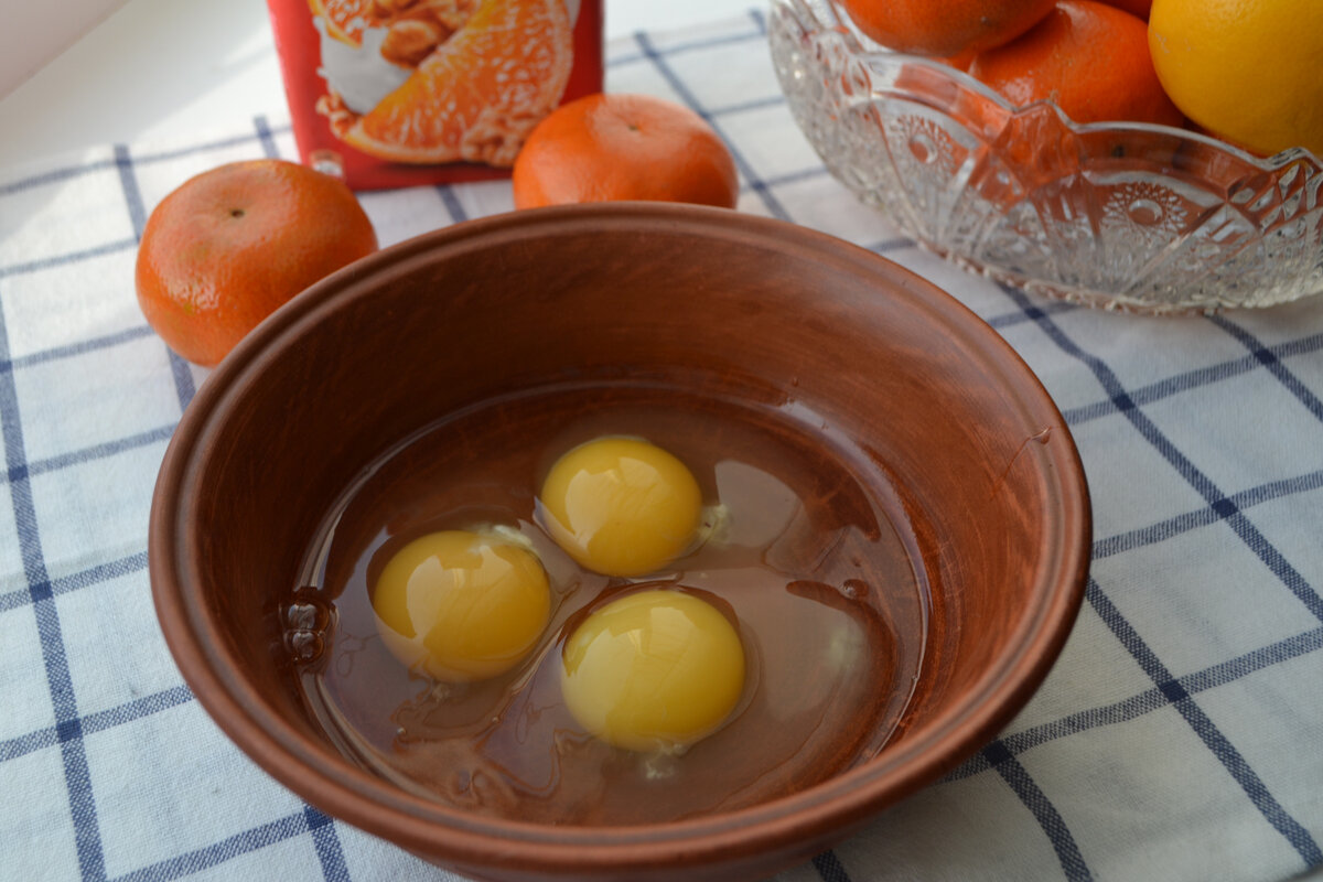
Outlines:
[[[975,56],[968,71],[1016,106],[1052,100],[1077,123],[1184,123],[1154,73],[1144,22],[1095,0],[1060,0],[1019,38]]]

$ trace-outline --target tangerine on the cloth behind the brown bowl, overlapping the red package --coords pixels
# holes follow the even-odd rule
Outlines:
[[[696,112],[648,95],[587,95],[558,107],[515,161],[515,208],[650,200],[734,208],[740,177]]]

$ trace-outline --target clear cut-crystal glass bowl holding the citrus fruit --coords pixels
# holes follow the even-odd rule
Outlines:
[[[1109,309],[1267,307],[1323,292],[1323,163],[1144,123],[1011,107],[892,53],[833,0],[773,0],[773,63],[828,171],[908,235],[1025,291]]]

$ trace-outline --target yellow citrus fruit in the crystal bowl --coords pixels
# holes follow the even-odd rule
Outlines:
[[[1193,122],[1258,153],[1323,157],[1319,0],[1154,0],[1148,48]]]

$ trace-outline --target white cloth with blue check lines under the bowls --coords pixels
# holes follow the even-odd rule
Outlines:
[[[1146,319],[966,275],[827,175],[765,38],[758,12],[638,34],[609,46],[609,86],[710,120],[741,210],[882,253],[991,323],[1064,411],[1095,517],[1084,610],[1028,707],[946,780],[781,878],[1323,866],[1323,299]],[[205,372],[143,323],[135,249],[187,177],[294,156],[283,103],[263,110],[218,135],[0,173],[3,879],[455,878],[257,770],[184,686],[152,611],[151,492]],[[361,198],[384,245],[511,208],[505,182]]]

